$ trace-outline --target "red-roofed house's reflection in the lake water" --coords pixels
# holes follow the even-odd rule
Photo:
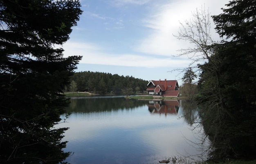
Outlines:
[[[150,100],[148,102],[148,111],[152,114],[161,115],[177,114],[179,111],[180,102],[178,100]]]

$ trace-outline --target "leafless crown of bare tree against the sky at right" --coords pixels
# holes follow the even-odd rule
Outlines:
[[[173,56],[186,55],[191,60],[191,63],[184,69],[174,69],[168,72],[180,71],[180,73],[184,73],[188,69],[195,69],[193,71],[196,73],[200,70],[197,64],[208,60],[212,64],[215,63],[210,58],[214,54],[214,48],[217,44],[211,36],[211,20],[209,10],[201,7],[201,9],[196,9],[192,12],[191,19],[185,20],[184,23],[180,22],[180,30],[177,35],[173,34],[173,36],[191,43],[193,47],[179,49],[180,53]]]

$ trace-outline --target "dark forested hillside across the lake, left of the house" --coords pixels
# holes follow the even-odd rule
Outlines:
[[[143,92],[146,90],[148,81],[132,76],[119,76],[117,74],[101,72],[76,72],[70,81],[76,84],[75,91],[87,91],[91,93],[114,93],[121,94],[126,91]],[[71,86],[66,91],[72,91]]]

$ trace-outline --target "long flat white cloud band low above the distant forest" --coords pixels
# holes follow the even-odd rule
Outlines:
[[[80,63],[86,64],[106,64],[117,66],[141,66],[157,68],[164,66],[182,67],[189,64],[189,60],[165,57],[150,57],[137,54],[113,54],[106,53],[106,49],[85,42],[67,42],[63,45],[64,57],[72,55],[82,55]]]

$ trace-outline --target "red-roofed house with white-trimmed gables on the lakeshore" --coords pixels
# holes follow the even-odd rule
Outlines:
[[[180,94],[177,80],[150,80],[147,86],[148,95],[178,97]]]

